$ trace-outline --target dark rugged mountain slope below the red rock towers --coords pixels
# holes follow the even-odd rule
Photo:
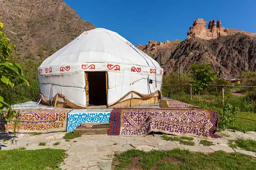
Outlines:
[[[162,53],[168,52],[158,49],[157,53],[149,55],[167,61],[161,63],[165,74],[175,72],[178,62],[184,72],[190,71],[191,64],[210,62],[221,77],[238,77],[242,71],[256,71],[256,38],[243,33],[210,40],[187,38],[173,52],[169,50],[169,56],[162,56]]]

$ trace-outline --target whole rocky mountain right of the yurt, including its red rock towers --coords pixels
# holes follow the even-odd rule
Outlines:
[[[221,77],[239,77],[242,71],[256,71],[256,33],[225,29],[221,20],[194,21],[184,40],[149,41],[137,47],[164,68],[164,74],[177,72],[177,66],[189,72],[194,63],[210,62]]]

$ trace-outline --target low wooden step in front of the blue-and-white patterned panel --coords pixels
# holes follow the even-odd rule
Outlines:
[[[82,123],[74,130],[74,134],[107,134],[110,123]]]

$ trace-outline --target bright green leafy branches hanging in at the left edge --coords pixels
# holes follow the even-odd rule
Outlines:
[[[6,38],[3,23],[0,22],[0,89],[12,89],[19,84],[29,86],[28,81],[23,76],[22,67],[13,60],[15,56],[15,52],[13,54],[13,51],[15,50],[15,45],[12,45],[10,39]],[[4,107],[7,108],[8,113],[5,118],[9,121],[12,121],[17,115],[11,105],[12,99],[7,100],[5,96],[0,96],[0,113]]]

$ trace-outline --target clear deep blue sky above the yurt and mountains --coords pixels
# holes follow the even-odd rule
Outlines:
[[[256,32],[256,0],[64,0],[96,27],[110,29],[132,44],[185,39],[196,18],[221,19],[225,28]]]

